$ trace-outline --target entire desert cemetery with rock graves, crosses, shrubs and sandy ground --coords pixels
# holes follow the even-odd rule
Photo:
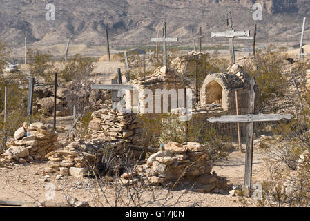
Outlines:
[[[291,50],[225,10],[97,57],[3,38],[0,207],[310,206],[310,21]]]

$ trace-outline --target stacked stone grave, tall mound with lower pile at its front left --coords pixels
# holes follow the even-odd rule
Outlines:
[[[88,128],[91,138],[81,141],[76,138],[68,146],[48,153],[45,157],[49,160],[47,173],[59,171],[62,175],[83,177],[88,171],[88,162],[101,160],[107,148],[115,154],[121,155],[128,151],[130,144],[142,145],[142,124],[137,117],[128,113],[112,111],[108,102],[103,109],[92,114]],[[134,155],[140,155],[135,151]]]

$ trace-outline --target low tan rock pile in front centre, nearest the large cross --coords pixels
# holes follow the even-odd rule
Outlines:
[[[136,168],[140,176],[148,177],[151,184],[166,184],[177,180],[197,183],[197,191],[210,192],[218,186],[219,179],[211,174],[213,162],[202,144],[169,142],[164,150],[148,157],[147,163]]]

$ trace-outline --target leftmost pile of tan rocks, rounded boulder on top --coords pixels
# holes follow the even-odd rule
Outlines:
[[[14,139],[6,143],[8,149],[2,154],[1,162],[26,163],[31,160],[43,160],[44,156],[61,147],[58,135],[47,124],[33,123],[28,127],[30,135],[26,137],[23,127],[14,133]]]

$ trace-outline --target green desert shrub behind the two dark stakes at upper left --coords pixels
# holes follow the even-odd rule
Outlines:
[[[46,84],[52,83],[52,55],[47,52],[41,52],[40,50],[32,50],[28,48],[27,50],[27,65],[28,71],[34,77],[43,77]]]

